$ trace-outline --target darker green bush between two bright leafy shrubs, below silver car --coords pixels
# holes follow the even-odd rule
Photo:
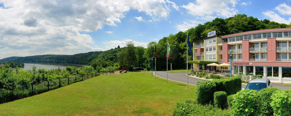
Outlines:
[[[280,90],[280,89],[268,87],[259,91],[259,93],[261,93],[259,97],[260,99],[259,107],[263,115],[270,116],[274,114],[274,111],[272,107],[270,106],[270,103],[272,102],[272,99],[271,99],[272,94],[276,92],[277,90]]]

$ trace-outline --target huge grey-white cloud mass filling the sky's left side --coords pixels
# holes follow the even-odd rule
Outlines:
[[[92,47],[95,41],[79,32],[116,26],[131,9],[155,21],[167,19],[168,6],[179,8],[168,0],[2,0],[1,4],[0,52],[15,56],[104,50]]]

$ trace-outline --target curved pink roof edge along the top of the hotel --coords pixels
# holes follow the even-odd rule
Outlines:
[[[245,35],[245,34],[251,34],[251,33],[259,33],[259,32],[286,31],[286,30],[290,31],[291,28],[275,28],[275,29],[254,30],[254,31],[240,32],[240,33],[235,33],[235,34],[230,34],[230,35],[223,35],[223,36],[221,36],[221,38],[239,36],[239,35]]]

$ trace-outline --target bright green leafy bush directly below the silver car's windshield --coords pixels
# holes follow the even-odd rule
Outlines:
[[[240,116],[257,116],[260,113],[259,109],[259,93],[256,90],[241,90],[235,94],[235,99],[232,102],[231,112],[233,115]]]

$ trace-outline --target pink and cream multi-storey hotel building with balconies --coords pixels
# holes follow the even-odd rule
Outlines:
[[[263,75],[271,82],[291,83],[291,28],[211,36],[193,41],[193,60],[230,63],[232,73]],[[203,68],[194,64],[194,68]]]

